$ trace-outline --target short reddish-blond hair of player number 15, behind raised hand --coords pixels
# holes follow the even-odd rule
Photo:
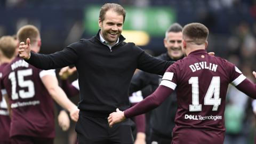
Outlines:
[[[19,42],[27,41],[27,38],[30,39],[30,43],[34,44],[37,42],[40,37],[39,30],[33,25],[26,25],[21,27],[17,32],[17,38]]]

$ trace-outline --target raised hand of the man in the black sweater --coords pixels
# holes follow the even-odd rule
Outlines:
[[[30,58],[30,39],[27,38],[27,44],[25,45],[24,42],[20,42],[19,45],[19,56],[23,59],[29,59]]]

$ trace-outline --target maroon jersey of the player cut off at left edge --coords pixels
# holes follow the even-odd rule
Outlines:
[[[0,81],[2,81],[2,76],[3,76],[2,71],[6,65],[7,63],[3,63],[0,66]],[[2,90],[1,82],[0,82],[0,89]],[[10,124],[11,124],[11,119],[7,110],[7,103],[3,98],[2,92],[0,92],[0,127],[1,127],[0,143],[1,141],[10,141],[9,139]]]

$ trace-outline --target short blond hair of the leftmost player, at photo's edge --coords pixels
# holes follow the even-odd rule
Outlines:
[[[3,55],[9,59],[14,56],[17,46],[18,43],[15,41],[13,36],[2,36],[0,38],[0,50],[2,51]]]

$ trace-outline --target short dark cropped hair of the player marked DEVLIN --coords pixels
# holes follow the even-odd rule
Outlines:
[[[202,23],[189,23],[182,30],[183,39],[197,45],[207,42],[209,30]]]

